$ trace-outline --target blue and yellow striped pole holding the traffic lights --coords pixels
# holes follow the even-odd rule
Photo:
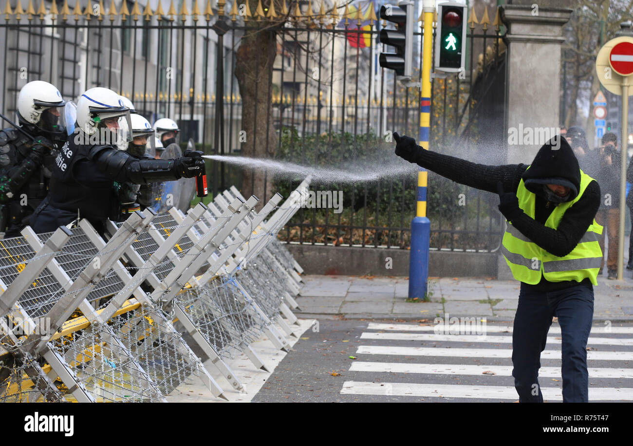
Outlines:
[[[422,99],[420,102],[419,144],[429,149],[431,106],[431,56],[435,0],[423,0]],[[427,179],[429,172],[418,171],[417,211],[411,221],[411,253],[409,258],[409,299],[425,299],[429,280],[430,221],[427,218]]]

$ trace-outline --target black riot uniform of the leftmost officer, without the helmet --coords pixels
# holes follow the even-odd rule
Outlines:
[[[38,144],[15,128],[0,130],[0,232],[19,237],[48,192],[53,142],[33,135]],[[45,147],[46,146],[46,147]]]

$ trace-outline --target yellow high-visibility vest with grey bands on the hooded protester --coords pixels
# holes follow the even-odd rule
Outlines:
[[[565,211],[579,201],[592,180],[593,178],[580,170],[580,190],[577,197],[572,201],[558,204],[549,214],[545,226],[553,229],[558,228]],[[534,218],[536,194],[527,190],[523,179],[518,185],[517,198],[519,208],[530,218]],[[515,279],[534,285],[541,281],[541,275],[549,282],[563,282],[565,280],[580,282],[588,277],[591,283],[598,285],[596,278],[603,258],[598,240],[603,227],[598,225],[595,219],[576,247],[565,257],[558,257],[545,251],[525,237],[509,221],[506,223],[501,252]]]

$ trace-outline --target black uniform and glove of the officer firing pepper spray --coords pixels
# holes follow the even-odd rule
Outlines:
[[[186,155],[186,154],[185,154]],[[34,231],[52,232],[87,218],[99,233],[107,219],[120,218],[123,186],[194,177],[204,170],[199,156],[173,160],[138,159],[115,146],[77,144],[71,137],[53,164],[50,192],[35,211]]]

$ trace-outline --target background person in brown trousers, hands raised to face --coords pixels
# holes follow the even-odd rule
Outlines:
[[[599,225],[605,226],[605,232],[599,238],[600,249],[605,252],[605,233],[609,238],[609,252],[606,259],[609,279],[617,278],[618,268],[618,230],[620,228],[620,163],[618,137],[608,132],[602,137],[599,149],[598,182],[602,191],[600,209],[596,214]],[[602,259],[599,275],[602,274],[605,259]]]

